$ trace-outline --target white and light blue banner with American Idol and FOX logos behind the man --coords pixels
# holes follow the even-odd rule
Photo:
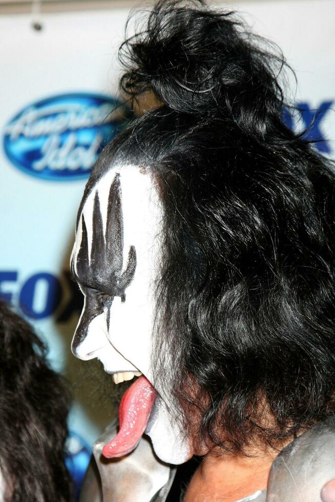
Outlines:
[[[227,4],[226,4],[227,5]],[[233,2],[253,30],[274,40],[296,70],[291,96],[306,128],[335,157],[335,3],[333,0]],[[78,483],[92,442],[115,413],[116,390],[96,362],[70,351],[82,299],[69,276],[74,223],[101,146],[122,123],[117,48],[129,9],[0,17],[0,295],[50,347],[52,366],[73,384],[69,427]]]

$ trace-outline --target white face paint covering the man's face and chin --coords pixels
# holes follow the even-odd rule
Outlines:
[[[82,360],[98,358],[108,373],[139,371],[154,386],[151,355],[162,211],[150,174],[137,166],[113,168],[83,205],[71,257],[85,295],[73,353]],[[147,433],[162,461],[181,464],[191,456],[189,442],[160,397],[162,390],[156,388]]]

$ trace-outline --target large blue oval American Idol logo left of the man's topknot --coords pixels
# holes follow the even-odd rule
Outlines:
[[[124,104],[109,96],[52,96],[30,104],[10,120],[5,127],[5,152],[18,169],[39,178],[85,178],[127,117]]]

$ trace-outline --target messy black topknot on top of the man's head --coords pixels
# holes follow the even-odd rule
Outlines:
[[[152,91],[177,112],[229,117],[264,135],[255,125],[264,126],[283,104],[284,60],[274,49],[243,29],[234,12],[209,9],[203,0],[161,1],[120,48],[121,88],[135,98]]]

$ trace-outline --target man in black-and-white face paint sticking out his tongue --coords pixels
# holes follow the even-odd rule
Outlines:
[[[315,502],[335,472],[331,162],[283,124],[285,61],[234,13],[160,2],[120,59],[156,105],[99,157],[71,257],[74,354],[138,377],[94,448],[103,499]]]

